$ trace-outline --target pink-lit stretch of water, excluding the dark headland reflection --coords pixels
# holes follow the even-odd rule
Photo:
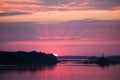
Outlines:
[[[120,65],[102,69],[98,66],[70,66],[58,64],[52,71],[37,72],[44,80],[119,80]]]

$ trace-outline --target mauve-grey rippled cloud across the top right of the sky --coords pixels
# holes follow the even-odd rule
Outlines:
[[[113,7],[120,6],[119,0],[42,0],[46,6],[63,5],[68,7],[78,7],[77,9],[99,9],[109,10]],[[90,7],[90,8],[89,8]],[[69,8],[68,8],[69,9]],[[74,9],[74,8],[73,8]]]

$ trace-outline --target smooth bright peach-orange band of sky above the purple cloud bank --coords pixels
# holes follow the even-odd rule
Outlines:
[[[119,16],[120,10],[47,11],[47,12],[35,12],[31,15],[29,14],[1,17],[0,21],[2,22],[34,21],[40,23],[56,23],[83,19],[120,20]]]

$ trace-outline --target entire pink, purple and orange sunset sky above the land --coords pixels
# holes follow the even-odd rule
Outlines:
[[[120,55],[120,0],[0,0],[0,51]]]

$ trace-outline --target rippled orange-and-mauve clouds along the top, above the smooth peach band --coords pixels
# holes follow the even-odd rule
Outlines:
[[[1,0],[0,11],[111,10],[118,9],[119,0]]]

